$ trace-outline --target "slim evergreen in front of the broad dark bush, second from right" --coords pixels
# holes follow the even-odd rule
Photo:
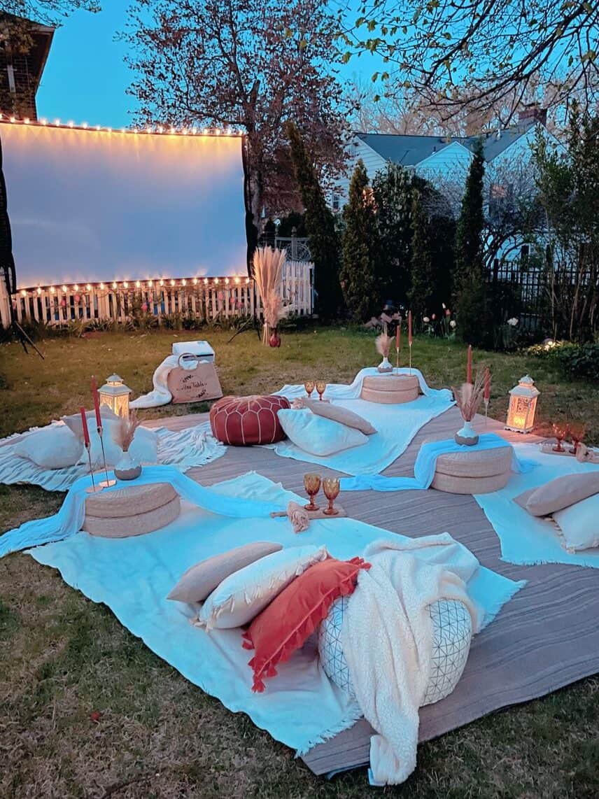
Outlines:
[[[431,230],[418,189],[411,204],[411,288],[408,295],[412,315],[421,320],[430,312],[435,295],[435,273],[431,250]]]

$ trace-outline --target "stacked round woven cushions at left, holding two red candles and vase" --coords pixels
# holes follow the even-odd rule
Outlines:
[[[81,530],[105,538],[128,538],[166,527],[179,513],[180,498],[170,483],[114,488],[86,497]]]

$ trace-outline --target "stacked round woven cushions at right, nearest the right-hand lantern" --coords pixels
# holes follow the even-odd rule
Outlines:
[[[431,487],[449,494],[489,494],[506,486],[512,467],[512,447],[438,455]]]

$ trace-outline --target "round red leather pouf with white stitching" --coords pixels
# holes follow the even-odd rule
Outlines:
[[[234,447],[272,444],[285,438],[276,411],[291,407],[285,397],[223,397],[210,408],[212,435]]]

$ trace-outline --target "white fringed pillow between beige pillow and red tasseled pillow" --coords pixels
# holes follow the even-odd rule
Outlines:
[[[326,557],[326,547],[290,547],[244,566],[209,594],[198,614],[198,624],[206,630],[248,624],[298,574]]]

